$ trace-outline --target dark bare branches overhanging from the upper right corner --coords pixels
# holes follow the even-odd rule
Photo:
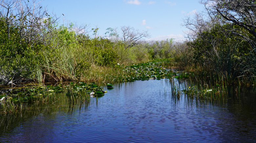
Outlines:
[[[246,40],[256,53],[256,2],[255,0],[203,0],[210,14],[221,16],[226,23],[243,27],[247,32],[233,29],[232,34]]]

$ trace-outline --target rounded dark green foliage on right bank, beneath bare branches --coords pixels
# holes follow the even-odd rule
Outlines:
[[[231,24],[215,24],[211,29],[198,33],[196,40],[189,43],[194,52],[191,57],[194,64],[202,66],[204,71],[220,76],[227,74],[235,78],[254,75],[255,73],[251,73],[254,70],[244,71],[248,69],[245,65],[251,61],[244,56],[251,55],[252,49],[245,40],[231,33],[234,28],[240,27]],[[240,30],[243,31],[242,28]],[[181,59],[186,55],[190,54],[180,54],[179,61],[185,61]]]

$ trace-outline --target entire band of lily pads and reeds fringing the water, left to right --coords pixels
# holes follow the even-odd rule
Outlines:
[[[27,85],[26,88],[11,88],[2,92],[0,98],[2,100],[2,113],[14,113],[23,110],[23,103],[55,103],[58,100],[58,94],[64,92],[67,95],[68,102],[77,100],[89,100],[90,93],[101,92],[104,95],[103,88],[100,85],[107,83],[132,82],[137,80],[160,80],[170,79],[171,96],[180,98],[183,95],[199,100],[224,100],[227,95],[233,92],[240,92],[240,85],[233,86],[225,78],[214,78],[213,76],[205,78],[200,77],[192,71],[178,71],[171,69],[176,66],[172,59],[155,59],[151,62],[132,64],[130,66],[118,65],[115,68],[107,68],[107,71],[95,72],[92,74],[97,78],[88,78],[89,82],[72,81],[72,83],[54,85],[40,85],[38,83]],[[104,70],[102,68],[101,70]],[[111,72],[112,71],[112,72]],[[212,80],[208,80],[212,78]],[[182,87],[174,82],[179,80],[184,83]],[[46,83],[47,84],[47,83]],[[107,94],[107,93],[106,93]],[[167,95],[167,93],[165,93]]]

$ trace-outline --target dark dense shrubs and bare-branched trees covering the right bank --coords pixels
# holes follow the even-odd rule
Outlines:
[[[187,17],[187,47],[177,56],[182,67],[229,83],[255,84],[256,2],[203,0],[205,13]]]

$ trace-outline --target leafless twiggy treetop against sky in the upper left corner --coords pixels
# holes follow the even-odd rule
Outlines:
[[[1,0],[1,21],[7,24],[8,38],[10,39],[10,26],[18,29],[20,39],[27,43],[40,43],[56,47],[53,43],[55,23],[58,18],[47,13],[37,0]]]

